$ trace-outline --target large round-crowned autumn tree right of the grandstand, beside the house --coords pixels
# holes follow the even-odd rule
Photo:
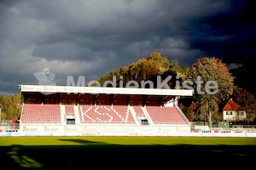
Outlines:
[[[212,116],[218,114],[218,104],[233,94],[234,77],[221,59],[203,57],[190,67],[187,80],[190,81],[187,85],[195,90],[195,105],[207,116],[208,125],[212,127]]]

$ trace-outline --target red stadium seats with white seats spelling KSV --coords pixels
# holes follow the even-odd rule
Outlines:
[[[65,115],[75,116],[79,109],[81,123],[125,123],[136,124],[128,105],[65,105]],[[187,124],[176,107],[131,106],[136,116],[148,115],[154,124]],[[61,123],[61,105],[24,104],[21,123]]]

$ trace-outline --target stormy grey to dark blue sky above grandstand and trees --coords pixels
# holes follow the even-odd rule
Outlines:
[[[1,0],[0,95],[38,85],[38,75],[54,76],[55,85],[67,85],[67,76],[88,83],[151,52],[181,66],[217,57],[236,68],[256,54],[250,2]]]

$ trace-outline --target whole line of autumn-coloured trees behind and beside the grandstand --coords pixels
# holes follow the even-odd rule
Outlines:
[[[247,112],[247,123],[256,121],[255,94],[246,88],[242,88],[240,83],[235,83],[236,77],[228,66],[222,59],[216,57],[202,57],[197,59],[191,66],[183,67],[179,65],[177,60],[169,60],[166,56],[153,52],[148,57],[138,59],[137,62],[110,71],[99,78],[97,82],[102,85],[106,81],[113,81],[113,76],[118,78],[117,87],[119,87],[120,82],[125,86],[125,83],[133,80],[141,85],[141,82],[150,80],[154,82],[154,88],[156,88],[158,76],[163,80],[169,76],[173,77],[168,81],[170,88],[183,88],[183,86],[177,86],[177,82],[179,85],[189,85],[195,90],[193,97],[179,99],[178,104],[191,122],[195,121],[196,113],[206,116],[208,125],[211,127],[212,119],[221,120],[222,109],[228,99],[233,99],[237,104],[241,105],[243,111]],[[198,77],[201,78],[200,81],[202,82],[200,87],[198,87],[197,83],[186,82],[188,80],[196,82]],[[218,87],[214,88],[214,84],[207,84],[206,82],[209,81],[217,82]],[[206,86],[210,87],[210,93],[199,93],[204,92],[207,88]],[[214,90],[218,93],[211,94]],[[0,96],[0,105],[2,105],[1,119],[18,118],[21,110],[20,102],[21,94],[15,94],[11,97]],[[196,106],[193,110],[189,109],[191,103]]]

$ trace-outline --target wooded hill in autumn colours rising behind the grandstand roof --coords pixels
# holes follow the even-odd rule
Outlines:
[[[175,82],[185,78],[188,71],[189,68],[179,66],[177,60],[168,60],[166,56],[153,52],[148,58],[138,59],[137,62],[130,65],[119,67],[97,81],[103,85],[104,82],[113,81],[113,77],[116,77],[116,87],[124,88],[129,81],[136,81],[140,86],[139,88],[141,88],[141,82],[152,81],[154,82],[154,88],[156,88],[158,76],[162,80],[172,76],[168,85],[170,88],[175,88]],[[120,82],[123,84],[120,84]],[[112,84],[108,84],[109,86],[111,87]],[[146,88],[148,87],[146,86]]]

